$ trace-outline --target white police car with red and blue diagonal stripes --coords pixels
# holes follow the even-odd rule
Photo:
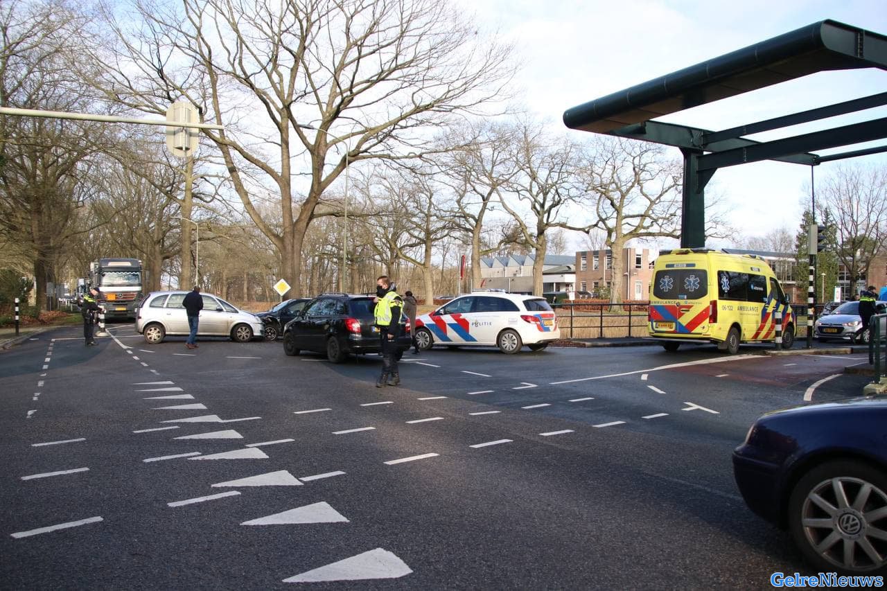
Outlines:
[[[416,318],[422,351],[436,344],[493,345],[503,353],[541,351],[561,338],[557,315],[544,297],[475,291]]]

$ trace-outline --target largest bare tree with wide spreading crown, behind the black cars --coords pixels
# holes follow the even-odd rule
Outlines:
[[[204,133],[296,286],[318,201],[347,166],[420,153],[429,129],[498,97],[512,73],[508,48],[482,45],[473,24],[433,0],[136,8],[137,30],[116,26],[121,74],[107,81],[109,95],[153,113],[184,96],[224,123]],[[303,199],[293,186],[300,149],[311,171]],[[255,207],[256,185],[279,194],[279,230]]]

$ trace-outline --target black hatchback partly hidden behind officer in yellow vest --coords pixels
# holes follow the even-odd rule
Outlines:
[[[307,303],[283,329],[283,351],[290,356],[301,351],[326,353],[333,363],[349,354],[378,353],[379,329],[373,316],[372,296],[323,294]],[[410,326],[401,320],[397,359],[410,348]]]

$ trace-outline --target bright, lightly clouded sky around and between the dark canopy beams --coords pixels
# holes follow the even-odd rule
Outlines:
[[[523,64],[517,83],[524,106],[560,130],[561,115],[571,106],[819,20],[887,35],[884,0],[462,1],[467,12],[475,13],[479,28],[497,30],[516,45]],[[695,107],[663,121],[726,129],[883,91],[887,72],[826,72]],[[881,107],[751,138],[773,139],[884,116],[887,108]],[[569,133],[580,140],[590,137],[586,132]],[[679,157],[677,148],[671,150]],[[844,149],[822,154],[840,151]],[[887,155],[846,162],[887,166]],[[825,177],[837,165],[816,167],[815,177]],[[800,203],[809,198],[810,168],[747,164],[718,170],[712,185],[723,195],[731,221],[742,234],[763,235],[781,226],[794,232]]]

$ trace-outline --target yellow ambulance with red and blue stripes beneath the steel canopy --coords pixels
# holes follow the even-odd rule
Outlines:
[[[708,342],[733,355],[740,343],[773,342],[777,311],[782,312],[782,346],[789,349],[795,317],[760,256],[679,248],[656,259],[648,331],[665,351]]]

